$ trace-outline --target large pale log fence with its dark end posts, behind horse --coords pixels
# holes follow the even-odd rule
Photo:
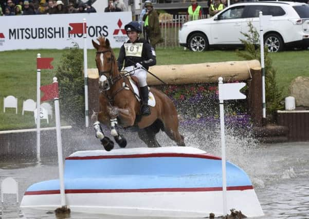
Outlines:
[[[234,61],[223,63],[202,63],[190,65],[153,66],[150,71],[166,84],[185,85],[198,83],[217,83],[221,76],[224,82],[246,81],[248,85],[248,111],[256,126],[262,126],[262,73],[259,61]],[[98,109],[99,92],[97,69],[88,69],[89,113]],[[161,85],[155,77],[148,75],[148,85]],[[95,86],[90,86],[95,85]],[[96,91],[94,91],[96,90]],[[90,115],[89,115],[90,117]]]

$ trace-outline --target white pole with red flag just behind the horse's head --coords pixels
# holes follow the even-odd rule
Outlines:
[[[83,19],[83,31],[86,30],[86,18]],[[88,119],[88,72],[87,72],[87,31],[84,31],[84,75],[85,75],[85,126],[89,127]]]

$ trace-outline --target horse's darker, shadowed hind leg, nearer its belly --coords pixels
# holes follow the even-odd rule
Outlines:
[[[156,134],[160,131],[160,127],[155,122],[149,127],[138,130],[139,138],[149,147],[149,148],[157,148],[161,147],[156,139]]]

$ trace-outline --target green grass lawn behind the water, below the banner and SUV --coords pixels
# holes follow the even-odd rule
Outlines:
[[[119,49],[115,49],[118,56]],[[52,65],[56,69],[65,50],[15,50],[0,52],[0,130],[35,128],[33,116],[22,115],[23,101],[37,99],[37,54],[53,57]],[[233,50],[211,50],[206,52],[184,51],[183,48],[158,48],[157,65],[192,64],[207,62],[225,62],[242,60]],[[288,95],[288,86],[297,76],[309,76],[309,50],[285,51],[270,54],[274,67],[278,70],[278,85],[283,88],[284,97]],[[88,50],[88,68],[95,68],[95,50]],[[55,70],[42,70],[41,85],[51,84]],[[13,109],[3,113],[3,97],[14,95],[18,98],[18,114]],[[47,126],[42,122],[42,127]],[[54,126],[51,121],[49,126]]]

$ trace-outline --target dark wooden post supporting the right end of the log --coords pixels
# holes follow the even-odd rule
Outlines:
[[[258,127],[263,126],[262,111],[262,69],[260,67],[250,68],[251,82],[249,85],[249,113],[252,122]]]

